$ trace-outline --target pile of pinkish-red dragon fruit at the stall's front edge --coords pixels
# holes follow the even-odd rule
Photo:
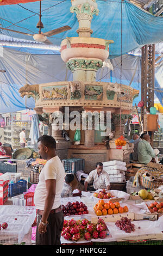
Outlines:
[[[106,224],[99,218],[98,222],[92,223],[84,218],[83,220],[64,220],[64,227],[61,236],[66,240],[78,241],[79,239],[104,239],[106,237]]]

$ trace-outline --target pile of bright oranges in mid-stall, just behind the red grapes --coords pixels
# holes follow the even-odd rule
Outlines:
[[[127,205],[121,206],[119,202],[111,202],[105,203],[103,199],[99,200],[95,206],[93,206],[93,210],[95,211],[97,216],[101,215],[111,215],[111,214],[123,214],[123,212],[128,212]]]

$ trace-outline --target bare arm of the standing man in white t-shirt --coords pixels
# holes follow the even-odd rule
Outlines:
[[[45,181],[46,183],[46,199],[45,199],[45,206],[43,210],[43,215],[41,218],[41,221],[43,223],[47,223],[47,219],[49,216],[50,211],[52,210],[52,206],[55,199],[55,188],[56,188],[56,180],[55,179],[48,179]],[[43,231],[43,232],[42,232]],[[39,224],[39,233],[45,233],[46,232],[46,225]]]

